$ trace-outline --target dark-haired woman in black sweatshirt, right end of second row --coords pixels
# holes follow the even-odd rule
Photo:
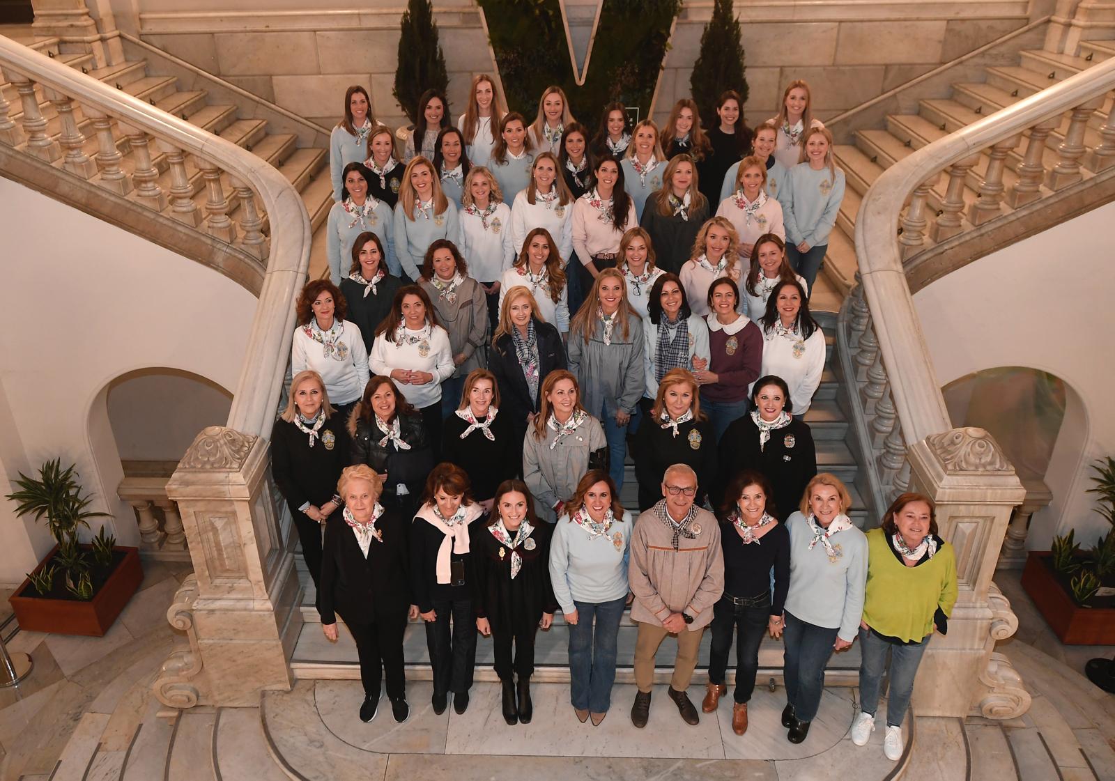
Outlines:
[[[745,469],[754,469],[774,488],[767,511],[785,523],[802,501],[802,494],[817,474],[817,451],[813,432],[795,418],[789,389],[780,377],[767,374],[752,385],[755,404],[748,414],[728,426],[720,438],[720,477],[715,506],[730,504],[724,497],[727,485]]]

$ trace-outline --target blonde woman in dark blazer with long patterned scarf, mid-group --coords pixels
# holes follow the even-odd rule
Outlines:
[[[534,296],[523,285],[504,296],[492,348],[488,368],[498,383],[504,411],[515,424],[522,462],[526,427],[542,406],[542,381],[565,368],[565,348],[558,329],[542,320]]]

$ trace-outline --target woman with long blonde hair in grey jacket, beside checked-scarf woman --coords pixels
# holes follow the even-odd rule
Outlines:
[[[628,304],[620,271],[605,269],[593,281],[570,325],[568,350],[582,403],[604,426],[608,472],[618,492],[623,488],[628,424],[647,387],[642,321]]]

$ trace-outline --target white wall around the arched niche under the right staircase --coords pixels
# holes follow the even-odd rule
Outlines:
[[[1093,545],[1108,525],[1093,511],[1089,465],[1115,455],[1115,203],[947,274],[914,295],[941,385],[981,369],[1031,367],[1067,387],[1067,407],[1027,545],[1047,549],[1070,528]]]

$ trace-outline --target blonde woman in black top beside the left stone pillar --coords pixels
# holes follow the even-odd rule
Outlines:
[[[349,458],[348,431],[336,411],[321,375],[300,371],[271,429],[271,474],[290,508],[314,588],[321,585],[321,525],[341,506],[337,480]]]

